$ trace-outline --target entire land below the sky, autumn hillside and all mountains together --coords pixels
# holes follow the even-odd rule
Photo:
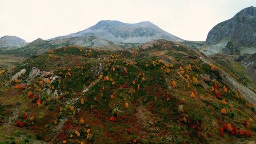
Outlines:
[[[100,20],[0,38],[0,144],[256,143],[256,8],[205,41]]]

